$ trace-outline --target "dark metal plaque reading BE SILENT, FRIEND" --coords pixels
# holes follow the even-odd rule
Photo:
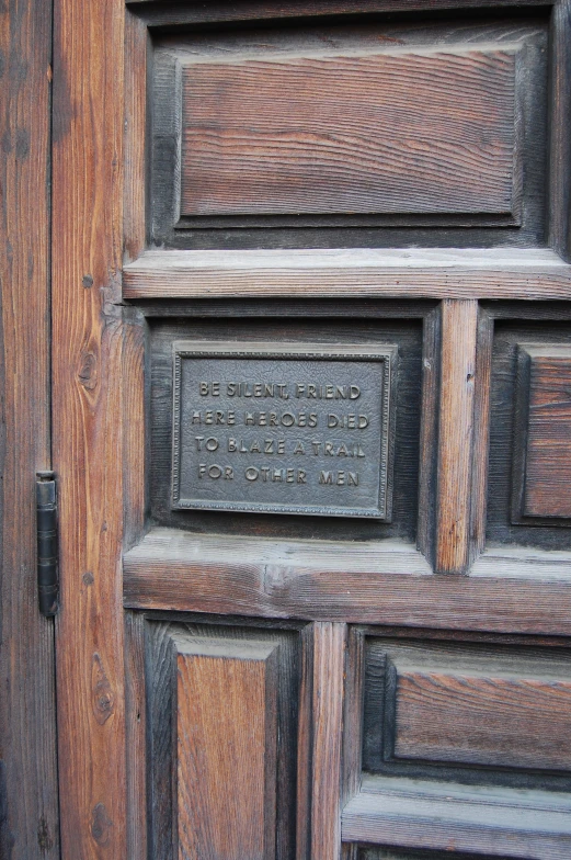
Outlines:
[[[173,508],[389,520],[396,357],[175,342]]]

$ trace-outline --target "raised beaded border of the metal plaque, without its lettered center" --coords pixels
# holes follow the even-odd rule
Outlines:
[[[390,522],[392,502],[392,460],[395,443],[396,344],[327,344],[265,341],[174,341],[172,416],[172,508],[175,510],[240,511],[248,513],[289,513],[321,517],[352,517]],[[181,496],[182,362],[184,359],[276,359],[277,361],[376,361],[382,364],[380,432],[378,439],[378,502],[374,508],[351,506],[270,503],[265,501],[208,500]]]

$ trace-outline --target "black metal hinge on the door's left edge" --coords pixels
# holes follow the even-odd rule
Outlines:
[[[37,599],[43,615],[58,610],[57,491],[53,472],[38,472],[36,480],[37,513]]]

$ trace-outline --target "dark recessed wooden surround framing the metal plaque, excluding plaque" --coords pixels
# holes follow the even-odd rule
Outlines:
[[[213,346],[236,340],[266,340],[276,344],[311,338],[327,344],[398,346],[395,403],[396,432],[391,522],[338,518],[334,536],[346,539],[399,538],[411,543],[416,531],[416,484],[419,468],[419,425],[421,398],[422,328],[404,319],[393,321],[306,318],[301,320],[241,319],[203,321],[201,319],[149,319],[150,328],[150,502],[151,517],[161,525],[235,534],[281,538],[321,538],[329,540],[331,520],[327,517],[260,514],[172,510],[172,427],[173,427],[173,342],[201,339]],[[324,430],[323,430],[324,432]],[[329,438],[329,435],[328,435]],[[342,437],[341,437],[342,438]],[[350,440],[349,440],[350,441]],[[232,456],[231,454],[229,455]],[[243,460],[244,455],[239,455]],[[238,466],[238,462],[235,463]]]

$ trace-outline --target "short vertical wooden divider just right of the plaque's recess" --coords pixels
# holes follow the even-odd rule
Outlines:
[[[435,569],[446,574],[470,555],[477,329],[477,302],[443,302]]]

